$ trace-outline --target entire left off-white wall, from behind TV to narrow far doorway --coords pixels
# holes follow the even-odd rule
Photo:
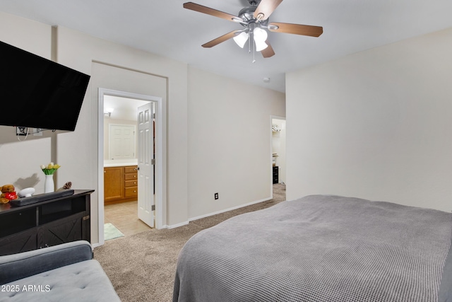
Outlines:
[[[0,175],[2,184],[21,179],[30,183],[37,178],[37,193],[41,193],[44,180],[39,166],[52,160],[61,165],[57,187],[72,181],[74,189],[95,189],[92,243],[98,240],[97,192],[103,190],[97,187],[98,87],[166,100],[164,225],[177,226],[196,216],[270,196],[268,129],[270,115],[285,115],[283,93],[196,69],[189,71],[187,64],[172,59],[1,12],[0,26],[5,29],[0,31],[0,40],[92,76],[74,132],[18,142],[15,136],[4,139],[4,133],[9,135],[12,127],[0,127],[0,156],[7,159],[1,163],[1,170],[8,171]],[[254,153],[261,150],[263,153]],[[233,167],[239,171],[238,177]],[[264,184],[261,178],[265,178]],[[208,188],[203,183],[206,180]],[[214,192],[220,193],[216,204],[212,202]]]

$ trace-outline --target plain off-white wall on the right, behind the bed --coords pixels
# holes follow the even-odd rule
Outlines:
[[[452,209],[452,29],[290,72],[287,199]]]

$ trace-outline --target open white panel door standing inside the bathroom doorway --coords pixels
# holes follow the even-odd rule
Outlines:
[[[138,219],[154,227],[153,103],[138,107]]]

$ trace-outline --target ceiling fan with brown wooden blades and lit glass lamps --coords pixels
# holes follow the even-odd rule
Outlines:
[[[223,18],[228,21],[237,22],[244,26],[244,29],[242,30],[232,30],[232,32],[227,33],[226,35],[222,35],[221,37],[217,37],[216,39],[203,44],[203,47],[213,47],[233,38],[237,45],[243,48],[248,40],[251,45],[251,39],[249,39],[249,37],[252,36],[256,51],[261,52],[264,58],[272,57],[275,54],[273,47],[271,47],[270,42],[268,42],[268,33],[266,30],[275,33],[309,35],[311,37],[319,37],[319,35],[323,33],[323,28],[320,26],[279,22],[269,23],[268,17],[270,17],[283,0],[248,0],[248,2],[250,6],[239,11],[238,16],[231,15],[230,13],[223,13],[222,11],[217,11],[216,9],[193,2],[184,3],[184,8]]]

